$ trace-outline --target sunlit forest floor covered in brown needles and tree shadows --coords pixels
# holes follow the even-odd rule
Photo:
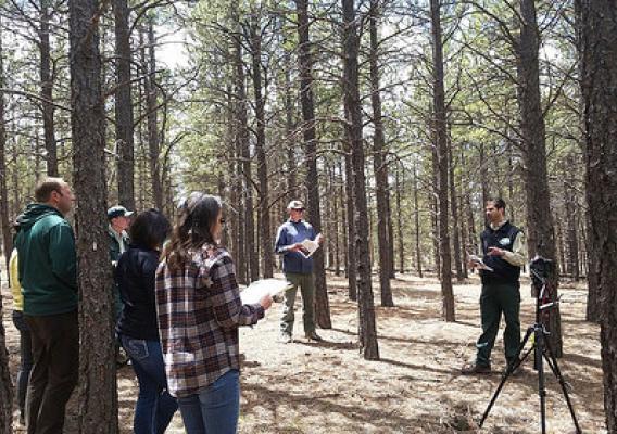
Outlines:
[[[538,374],[531,362],[511,378],[482,430],[477,421],[501,375],[462,376],[474,359],[480,332],[477,278],[454,286],[456,322],[440,319],[441,296],[435,278],[399,276],[393,280],[396,307],[376,307],[380,361],[357,350],[356,305],[347,297],[347,280],[328,276],[332,329],[318,330],[323,343],[304,340],[301,303],[295,341],[277,342],[280,304],[253,329],[241,329],[245,356],[241,375],[240,433],[539,433]],[[379,304],[378,284],[375,301]],[[558,363],[571,385],[571,399],[583,433],[605,433],[599,327],[584,321],[584,283],[562,282],[564,358]],[[18,334],[3,290],[4,327],[11,370],[18,362]],[[533,322],[529,281],[521,285],[521,327]],[[298,301],[300,302],[300,299]],[[493,350],[493,370],[504,368],[502,330]],[[545,368],[549,371],[549,368]],[[546,375],[547,433],[575,433],[558,383]],[[65,433],[74,433],[75,395]],[[137,382],[130,367],[118,372],[121,432],[130,433]],[[17,419],[15,412],[15,420]],[[17,422],[16,433],[25,432]],[[181,433],[176,413],[168,433]]]

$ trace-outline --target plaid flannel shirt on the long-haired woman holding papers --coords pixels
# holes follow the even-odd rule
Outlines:
[[[177,397],[239,370],[238,327],[264,317],[261,305],[242,305],[231,256],[212,245],[193,252],[184,270],[159,265],[156,311],[167,387]]]

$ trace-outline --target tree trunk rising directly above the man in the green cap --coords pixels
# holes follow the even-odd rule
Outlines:
[[[135,209],[134,119],[130,84],[130,35],[128,31],[127,0],[114,0],[116,92],[115,136],[117,152],[118,203]]]

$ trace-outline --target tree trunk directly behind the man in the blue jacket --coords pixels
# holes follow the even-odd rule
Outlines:
[[[317,140],[315,131],[315,106],[313,98],[313,59],[311,53],[308,1],[295,0],[298,13],[298,42],[300,69],[300,102],[302,104],[302,135],[304,154],[306,156],[306,177],[304,187],[307,192],[308,221],[316,232],[322,231],[322,213],[319,210],[319,182],[317,182]],[[315,273],[315,319],[323,329],[330,329],[330,302],[326,286],[324,269],[324,252],[319,248],[313,255]]]

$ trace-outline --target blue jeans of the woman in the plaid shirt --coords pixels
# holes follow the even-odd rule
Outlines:
[[[236,434],[240,416],[240,372],[221,375],[199,394],[178,398],[187,434]]]

